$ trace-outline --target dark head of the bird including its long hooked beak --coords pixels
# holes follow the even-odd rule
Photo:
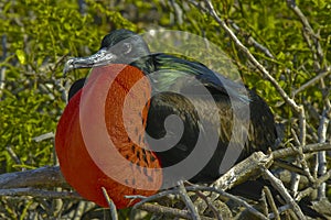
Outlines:
[[[149,53],[148,45],[139,34],[125,29],[115,30],[103,38],[100,50],[94,55],[68,59],[64,73],[108,64],[130,64]]]

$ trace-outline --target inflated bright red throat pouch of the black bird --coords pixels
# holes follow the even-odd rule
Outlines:
[[[55,148],[67,183],[85,199],[118,209],[162,185],[161,166],[145,142],[151,88],[138,68],[108,65],[92,70],[57,124]]]

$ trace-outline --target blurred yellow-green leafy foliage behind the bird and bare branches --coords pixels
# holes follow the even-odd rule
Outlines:
[[[215,1],[221,18],[236,23],[239,40],[290,94],[318,74],[311,48],[302,36],[302,24],[286,1],[221,0]],[[330,65],[331,2],[297,1],[312,29],[319,33],[324,52],[321,68]],[[290,108],[269,81],[253,67],[214,19],[186,1],[167,0],[2,0],[0,2],[0,173],[55,164],[53,139],[40,142],[35,138],[55,132],[65,107],[62,69],[66,56],[85,56],[96,52],[102,37],[114,29],[143,32],[149,29],[182,30],[205,36],[218,45],[237,65],[244,81],[255,88],[270,105],[277,118],[290,129],[296,119]],[[275,59],[248,45],[254,37]],[[3,75],[6,73],[6,75]],[[84,76],[75,72],[68,81]],[[327,85],[330,86],[330,85]],[[298,103],[309,102],[321,113],[321,88],[312,86],[295,97]],[[319,118],[307,112],[309,128],[316,131]],[[290,130],[288,130],[290,131]],[[309,135],[309,142],[314,142]],[[18,202],[18,199],[14,199]],[[3,218],[28,219],[31,201],[0,201]],[[32,207],[32,208],[31,208]],[[0,215],[1,218],[1,215]]]

